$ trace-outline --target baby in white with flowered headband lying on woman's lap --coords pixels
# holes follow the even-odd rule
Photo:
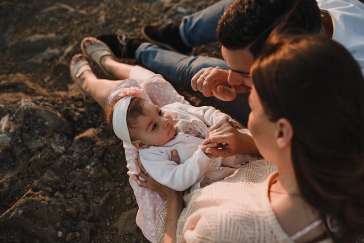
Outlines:
[[[229,119],[234,127],[239,126],[229,115],[214,107],[180,102],[161,109],[140,97],[142,93],[138,87],[121,90],[122,98],[109,107],[112,112],[107,119],[112,120],[119,139],[139,149],[144,168],[159,183],[176,191],[191,186],[193,190],[230,176],[244,158],[246,162],[252,160],[247,155],[210,158],[205,150],[215,145],[201,146],[212,125]],[[177,150],[180,164],[171,160],[172,150]]]

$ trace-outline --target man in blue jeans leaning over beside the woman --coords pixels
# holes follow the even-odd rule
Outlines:
[[[235,37],[243,40],[243,43],[240,46],[234,44],[232,47],[225,48],[224,40],[219,40],[223,50],[227,52],[226,55],[229,57],[229,54],[235,53],[237,50],[246,49],[249,41],[252,42],[255,39],[258,39],[256,46],[257,49],[260,49],[269,32],[280,23],[283,16],[292,8],[293,3],[293,0],[235,1],[233,6],[235,6],[234,8],[237,7],[236,10],[231,10],[229,15],[223,16],[225,20],[228,20],[224,28],[229,27],[231,29],[229,34],[235,33]],[[149,40],[160,45],[188,52],[188,47],[211,42],[215,39],[214,28],[221,14],[230,4],[232,4],[232,0],[222,0],[200,12],[184,17],[180,24],[168,24],[162,29],[147,26],[143,29],[143,33]],[[291,21],[289,21],[291,22],[290,26],[303,28],[308,33],[321,31],[328,37],[337,40],[353,53],[354,58],[363,67],[364,72],[364,29],[362,28],[364,25],[364,4],[357,0],[319,0],[318,4],[321,7],[321,12],[314,0],[299,0],[297,2],[297,9],[293,13]],[[231,17],[233,14],[235,16]],[[320,14],[321,22],[318,20]],[[261,34],[262,36],[260,36]],[[225,39],[229,40],[230,36]],[[101,38],[101,40],[103,39]],[[244,66],[239,68],[235,66],[235,69],[231,69],[229,76],[223,70],[227,71],[232,66],[228,66],[223,60],[210,57],[186,56],[161,49],[150,43],[132,43],[134,45],[130,45],[131,48],[123,46],[124,49],[129,51],[129,54],[132,53],[129,57],[136,57],[141,65],[154,72],[161,73],[173,85],[180,86],[185,90],[191,90],[190,85],[192,84],[194,90],[199,90],[205,96],[214,95],[224,101],[232,100],[235,97],[232,102],[221,101],[219,108],[232,114],[243,124],[247,123],[249,113],[247,96],[244,94],[236,96],[236,92],[244,92],[246,87],[243,86],[243,89],[236,90],[236,92],[234,92],[235,89],[230,87],[236,84],[249,86],[247,78],[253,53],[249,53],[249,51],[239,53],[240,59],[238,63]],[[224,56],[225,59],[227,58],[226,55]],[[216,66],[222,70],[215,68]],[[214,68],[201,70],[207,67]],[[234,71],[243,71],[243,73]],[[204,80],[199,79],[201,75],[206,76],[206,78]],[[224,81],[227,83],[227,77],[230,77],[229,81],[231,83],[229,85],[218,85],[219,88],[215,87],[215,93],[213,94],[212,87],[216,83],[221,84]],[[191,79],[190,84],[189,81]],[[204,85],[202,85],[203,83]],[[206,88],[204,89],[203,87]],[[237,89],[238,87],[235,88]],[[232,109],[236,105],[240,107],[238,111]]]

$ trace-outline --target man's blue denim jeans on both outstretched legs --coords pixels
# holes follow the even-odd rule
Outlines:
[[[197,46],[216,41],[215,33],[217,22],[233,0],[221,0],[210,7],[182,18],[180,34],[187,46]],[[161,74],[165,80],[174,87],[192,91],[192,77],[204,67],[219,66],[229,70],[224,60],[204,57],[186,56],[174,51],[161,49],[151,43],[143,43],[135,51],[135,56],[140,65]],[[221,101],[215,97],[217,107],[221,111],[230,114],[243,125],[248,123],[250,108],[247,94],[238,94],[233,101]]]

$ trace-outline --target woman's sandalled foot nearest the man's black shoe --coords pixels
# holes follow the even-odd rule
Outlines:
[[[110,79],[114,79],[112,64],[116,61],[114,53],[110,48],[95,37],[85,37],[81,42],[83,54],[96,63],[102,72]]]

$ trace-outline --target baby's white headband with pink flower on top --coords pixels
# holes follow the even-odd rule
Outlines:
[[[125,88],[119,94],[119,96],[123,96],[123,98],[117,101],[114,106],[113,130],[116,137],[121,139],[123,142],[132,143],[126,121],[126,115],[132,97],[140,96],[142,92],[143,91],[141,89],[136,87]]]

